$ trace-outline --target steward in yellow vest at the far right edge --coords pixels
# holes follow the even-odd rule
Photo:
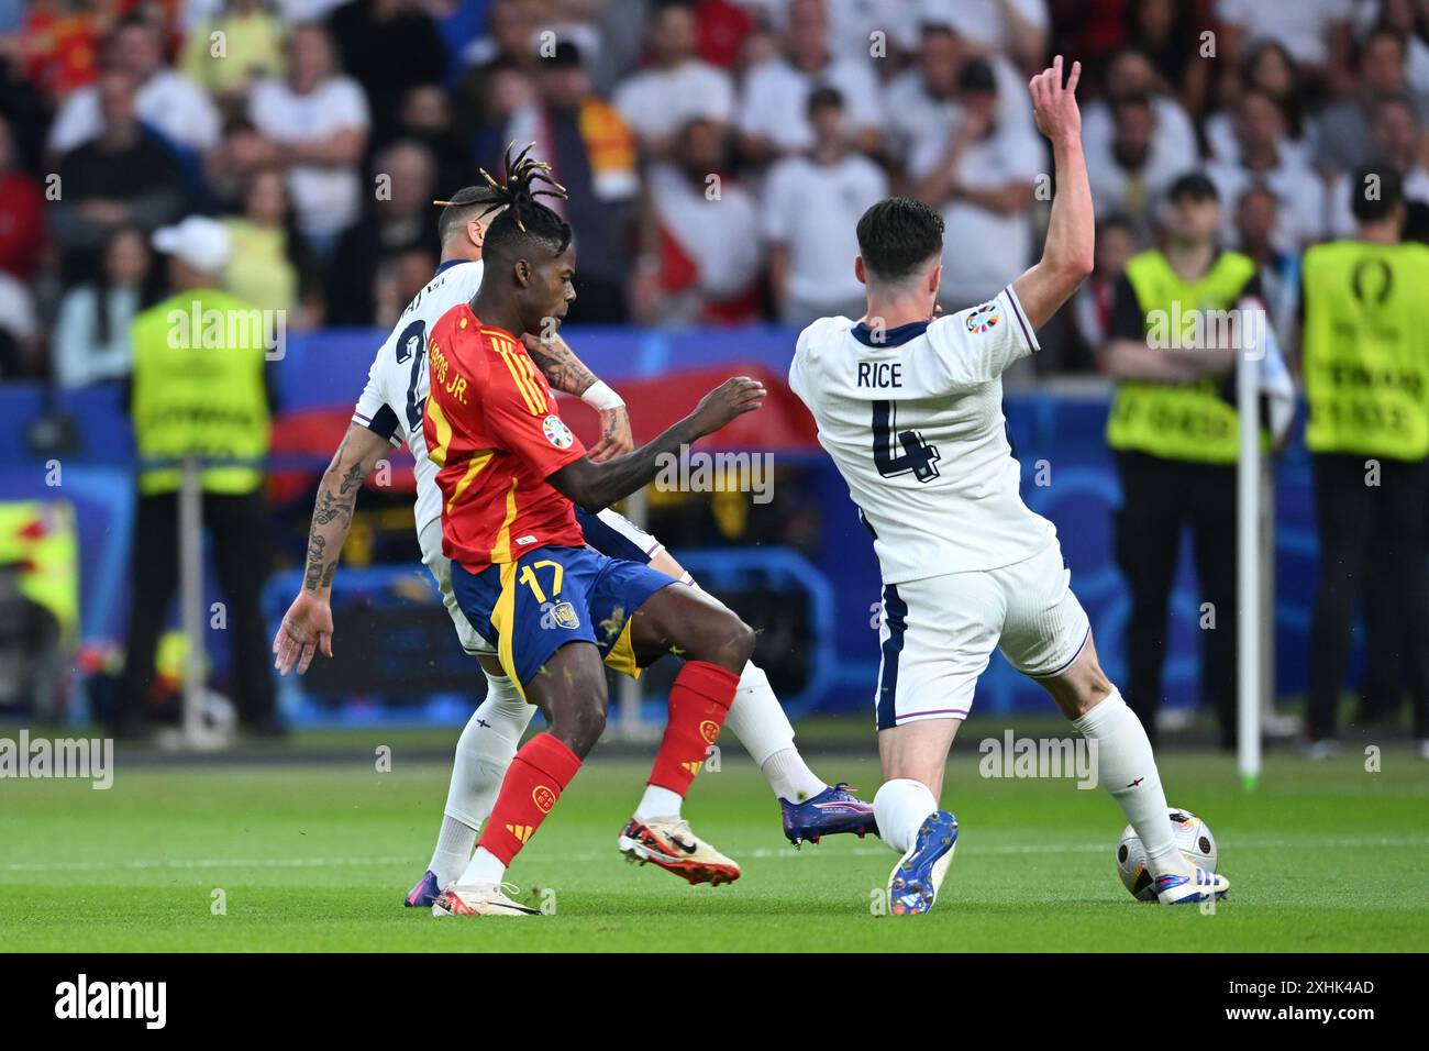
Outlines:
[[[1369,659],[1415,706],[1429,758],[1429,246],[1403,243],[1405,199],[1389,170],[1352,184],[1353,240],[1305,253],[1300,362],[1310,416],[1320,579],[1310,621],[1306,736],[1335,748],[1355,605],[1366,575]]]

